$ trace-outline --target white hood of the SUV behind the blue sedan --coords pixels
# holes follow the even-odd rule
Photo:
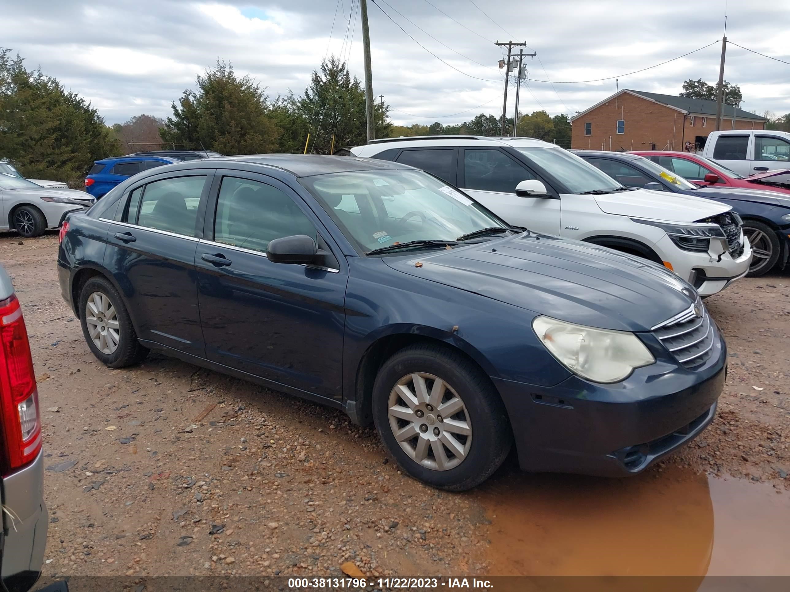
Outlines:
[[[696,222],[732,209],[726,204],[701,197],[650,189],[607,193],[593,197],[598,207],[607,214],[667,222]]]

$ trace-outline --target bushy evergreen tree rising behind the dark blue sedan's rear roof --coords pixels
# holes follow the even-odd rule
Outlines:
[[[160,136],[184,148],[216,150],[226,155],[262,154],[277,148],[281,130],[269,117],[264,88],[251,77],[238,77],[232,64],[198,75],[197,89],[171,103],[173,117]]]

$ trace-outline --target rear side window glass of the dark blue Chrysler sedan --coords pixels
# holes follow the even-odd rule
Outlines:
[[[175,234],[194,236],[198,206],[205,186],[205,175],[162,179],[145,185],[137,210],[137,225]],[[131,220],[134,194],[130,200]]]

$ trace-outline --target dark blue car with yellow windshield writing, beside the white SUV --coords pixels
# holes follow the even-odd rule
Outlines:
[[[743,235],[751,245],[750,277],[765,275],[775,266],[784,268],[787,264],[790,257],[790,199],[781,193],[699,187],[674,170],[661,166],[653,157],[628,152],[573,152],[628,187],[683,193],[731,205],[743,219]]]

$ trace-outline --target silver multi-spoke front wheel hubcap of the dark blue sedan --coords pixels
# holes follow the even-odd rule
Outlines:
[[[433,374],[408,374],[387,403],[389,428],[416,463],[448,470],[464,462],[472,446],[472,421],[457,392]]]

